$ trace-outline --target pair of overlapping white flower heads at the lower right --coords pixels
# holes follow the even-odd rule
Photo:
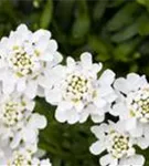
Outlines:
[[[109,114],[118,122],[93,126],[98,141],[89,149],[95,155],[106,151],[102,166],[142,166],[145,158],[135,147],[149,147],[149,83],[145,75],[129,73],[126,79],[116,79],[113,87],[117,98]]]

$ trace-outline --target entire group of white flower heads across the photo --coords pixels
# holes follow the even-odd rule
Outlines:
[[[91,118],[97,142],[89,147],[102,166],[142,166],[136,145],[149,147],[149,83],[130,73],[115,79],[102,72],[92,54],[75,61],[63,56],[46,30],[31,32],[24,24],[0,42],[0,165],[51,166],[38,155],[39,131],[46,118],[34,113],[35,96],[56,106],[55,118],[68,124]],[[106,114],[118,117],[107,121]],[[106,120],[106,121],[105,121]]]

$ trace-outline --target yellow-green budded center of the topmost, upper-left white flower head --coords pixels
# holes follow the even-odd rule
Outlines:
[[[18,76],[32,74],[34,61],[23,48],[14,46],[9,61]]]

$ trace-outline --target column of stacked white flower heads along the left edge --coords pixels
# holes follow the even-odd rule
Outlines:
[[[0,165],[51,166],[39,159],[39,131],[46,118],[34,113],[35,96],[46,72],[62,61],[46,30],[31,32],[21,24],[0,41]]]

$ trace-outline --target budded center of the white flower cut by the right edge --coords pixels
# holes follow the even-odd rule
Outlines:
[[[149,122],[149,89],[141,89],[128,97],[130,115],[140,122]]]

